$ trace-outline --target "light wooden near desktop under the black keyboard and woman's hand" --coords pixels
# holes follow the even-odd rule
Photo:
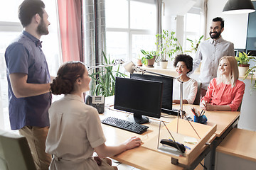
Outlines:
[[[110,111],[105,109],[105,113],[100,115],[100,118],[105,118],[107,116],[112,116],[115,118],[126,119],[129,115],[127,113],[121,113],[116,111]],[[151,120],[148,124],[149,130],[144,132],[142,135],[135,134],[133,132],[128,132],[126,130],[121,130],[119,128],[113,128],[109,125],[102,124],[102,128],[107,139],[106,145],[119,145],[121,142],[124,142],[129,137],[137,136],[142,139],[143,142],[149,140],[151,135],[155,135],[155,132],[158,132],[159,121]],[[181,166],[176,166],[171,164],[171,157],[166,156],[166,154],[162,154],[160,152],[155,152],[151,149],[146,149],[145,147],[138,147],[131,150],[127,150],[122,154],[118,154],[112,159],[115,159],[124,164],[128,164],[130,166],[134,166],[137,169],[183,169]]]

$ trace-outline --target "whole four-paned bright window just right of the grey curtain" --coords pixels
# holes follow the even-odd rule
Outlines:
[[[140,50],[156,50],[156,4],[139,0],[106,0],[107,56],[136,60]]]

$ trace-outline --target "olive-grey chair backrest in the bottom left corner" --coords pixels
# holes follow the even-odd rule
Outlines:
[[[26,137],[0,130],[0,169],[35,169]]]

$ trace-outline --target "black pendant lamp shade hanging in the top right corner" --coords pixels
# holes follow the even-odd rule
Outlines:
[[[228,0],[223,8],[223,13],[251,13],[255,8],[250,0]]]

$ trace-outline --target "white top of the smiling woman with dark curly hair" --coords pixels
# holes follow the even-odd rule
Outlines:
[[[174,90],[173,90],[173,100],[180,100],[181,96],[181,84],[178,80],[174,79]],[[183,100],[187,100],[188,104],[193,104],[196,98],[196,92],[198,90],[197,81],[194,79],[189,79],[183,82]]]

